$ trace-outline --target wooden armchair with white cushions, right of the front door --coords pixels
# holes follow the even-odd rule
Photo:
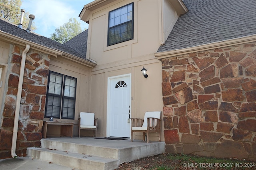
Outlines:
[[[161,111],[147,111],[144,119],[131,118],[131,141],[133,132],[143,132],[143,141],[147,133],[147,143],[149,142],[149,133],[158,132],[159,142],[161,141]]]

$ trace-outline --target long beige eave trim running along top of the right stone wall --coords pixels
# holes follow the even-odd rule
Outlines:
[[[175,49],[175,50],[170,50],[170,51],[158,52],[158,53],[154,53],[154,55],[158,59],[165,59],[168,57],[176,57],[178,55],[185,55],[188,53],[195,53],[195,52],[199,52],[199,51],[206,51],[206,50],[211,50],[211,49],[216,49],[216,48],[228,47],[228,46],[232,46],[232,45],[239,45],[239,44],[243,44],[243,43],[251,43],[251,42],[255,42],[255,41],[256,41],[256,34],[253,34],[253,35],[248,35],[248,36],[244,36],[244,37],[218,41],[218,42],[214,42],[214,43],[197,45],[194,47],[188,47],[188,48],[184,48],[184,49]]]

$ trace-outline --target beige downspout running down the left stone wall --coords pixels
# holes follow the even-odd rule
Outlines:
[[[16,143],[17,143],[17,134],[18,134],[18,123],[19,123],[19,115],[20,115],[20,100],[21,100],[21,93],[22,93],[22,84],[23,84],[23,77],[24,77],[24,68],[25,68],[25,61],[26,61],[26,54],[30,49],[30,45],[26,44],[26,48],[22,52],[21,63],[20,63],[20,77],[18,83],[18,92],[17,92],[17,100],[16,100],[16,108],[14,114],[14,125],[13,125],[13,132],[12,132],[12,150],[11,154],[13,158],[17,158],[16,155]]]

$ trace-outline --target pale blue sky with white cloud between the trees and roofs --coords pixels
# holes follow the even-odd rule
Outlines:
[[[70,18],[76,18],[81,24],[82,30],[88,28],[88,24],[80,20],[80,14],[84,5],[93,0],[22,0],[21,9],[29,14],[34,14],[33,20],[37,29],[34,32],[50,37],[55,29],[67,23]],[[24,25],[26,28],[27,25]]]

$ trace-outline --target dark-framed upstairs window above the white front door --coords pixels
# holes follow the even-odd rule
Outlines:
[[[108,46],[133,39],[134,3],[110,11],[108,15]]]

